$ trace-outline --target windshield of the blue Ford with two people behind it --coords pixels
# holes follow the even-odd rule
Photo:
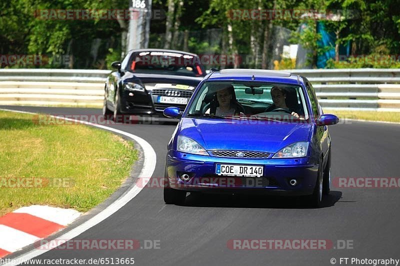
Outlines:
[[[187,107],[188,116],[306,120],[308,112],[300,86],[260,81],[207,81]]]

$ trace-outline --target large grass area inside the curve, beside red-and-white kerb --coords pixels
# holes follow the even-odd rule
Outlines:
[[[32,118],[0,111],[0,215],[33,204],[85,212],[111,195],[137,160],[133,144],[109,132]],[[6,178],[63,178],[69,185],[10,188]]]

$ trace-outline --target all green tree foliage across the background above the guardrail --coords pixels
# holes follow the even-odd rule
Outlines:
[[[178,0],[174,0],[178,4]],[[153,8],[167,13],[167,0],[153,0]],[[121,31],[128,20],[52,20],[35,17],[40,9],[122,9],[128,7],[126,0],[2,0],[0,1],[0,54],[73,55],[74,68],[105,68],[113,60],[120,60]],[[318,47],[321,38],[316,33],[316,20],[304,19],[233,19],[232,9],[315,9],[344,10],[346,15],[336,20],[324,20],[325,28],[336,35],[336,45],[350,43],[351,54],[390,55],[400,50],[400,15],[398,0],[184,0],[175,8],[173,20],[179,19],[179,32],[195,32],[189,35],[187,49],[195,53],[225,53],[253,55],[266,51],[270,58],[273,45],[269,34],[270,25],[290,29],[290,43],[301,44],[309,51],[308,62],[315,66],[317,55],[332,47]],[[37,13],[36,13],[37,15]],[[307,24],[301,32],[301,24]],[[218,40],[210,41],[197,34],[210,28],[220,28]],[[228,31],[228,28],[230,31]],[[161,48],[164,42],[165,20],[151,20],[150,47]],[[271,33],[268,32],[267,33]],[[93,43],[101,42],[96,55],[92,55]],[[254,45],[254,43],[256,45]],[[267,45],[264,47],[264,45]],[[175,46],[175,47],[174,47]],[[257,46],[257,49],[254,47]],[[172,48],[181,48],[173,45]],[[265,48],[265,49],[264,49]],[[104,63],[105,62],[105,63]],[[396,62],[362,62],[348,59],[343,62],[329,60],[328,68],[336,67],[398,67]],[[280,64],[280,62],[279,62]],[[259,65],[247,65],[246,67]],[[38,66],[15,66],[38,67]],[[68,67],[45,65],[40,67]]]

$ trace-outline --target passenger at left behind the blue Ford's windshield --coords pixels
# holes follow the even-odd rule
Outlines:
[[[205,113],[220,116],[244,116],[244,108],[237,102],[233,86],[228,85],[215,93],[211,106]]]

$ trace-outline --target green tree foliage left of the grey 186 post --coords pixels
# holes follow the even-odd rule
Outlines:
[[[42,55],[44,65],[11,65],[8,67],[65,68],[69,64],[54,64],[55,56],[73,55],[74,68],[102,68],[106,52],[97,58],[91,54],[93,40],[105,40],[120,35],[116,20],[61,20],[40,17],[43,9],[123,8],[126,1],[83,0],[3,0],[0,2],[0,54]],[[109,41],[108,41],[109,42]],[[120,47],[112,41],[114,48]]]

